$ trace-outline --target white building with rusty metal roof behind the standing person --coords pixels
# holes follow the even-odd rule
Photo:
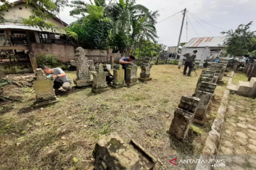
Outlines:
[[[210,37],[210,38],[192,38],[182,47],[181,58],[178,65],[182,64],[183,55],[193,50],[198,50],[196,53],[196,60],[200,60],[200,67],[203,66],[204,60],[207,59],[208,55],[216,52],[226,52],[224,44],[225,37]]]

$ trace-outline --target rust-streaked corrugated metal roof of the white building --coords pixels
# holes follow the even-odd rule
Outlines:
[[[225,47],[225,37],[192,38],[184,47]]]

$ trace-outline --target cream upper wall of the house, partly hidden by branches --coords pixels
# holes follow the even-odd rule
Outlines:
[[[20,10],[19,8],[22,8],[22,10]],[[28,4],[28,6],[25,6],[25,3],[21,3],[21,4],[16,4],[13,7],[9,8],[9,11],[3,11],[4,13],[4,19],[6,20],[6,24],[21,24],[22,20],[28,19],[29,16],[31,16],[31,11],[32,10],[36,10],[35,6],[32,6],[31,4]],[[56,21],[54,18],[50,18],[48,20],[46,20],[46,22],[48,23],[53,23],[55,26],[60,27],[62,30],[65,30],[63,28],[63,25]],[[52,32],[50,29],[48,29],[49,32]]]

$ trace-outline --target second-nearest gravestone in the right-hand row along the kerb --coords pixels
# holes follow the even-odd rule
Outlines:
[[[206,111],[213,98],[213,94],[205,91],[197,91],[195,97],[200,98],[200,101],[193,121],[200,125],[205,125],[207,120]]]

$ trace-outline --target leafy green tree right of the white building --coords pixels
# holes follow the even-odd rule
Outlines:
[[[235,31],[222,32],[226,35],[224,45],[227,45],[227,52],[230,55],[244,55],[247,52],[252,52],[250,47],[252,47],[256,31],[250,30],[251,25],[252,21],[246,25],[241,24]]]

